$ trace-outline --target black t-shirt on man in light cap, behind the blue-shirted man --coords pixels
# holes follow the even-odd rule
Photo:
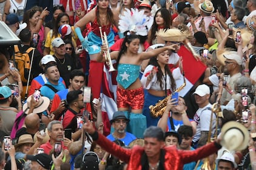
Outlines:
[[[59,69],[59,74],[61,74],[61,77],[64,79],[66,87],[69,87],[70,72],[79,68],[76,67],[74,60],[67,53],[65,54],[64,59],[58,59],[55,55],[53,55],[53,57],[55,57],[57,67]]]

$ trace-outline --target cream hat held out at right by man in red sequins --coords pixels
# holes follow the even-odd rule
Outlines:
[[[229,151],[241,151],[248,146],[249,132],[241,123],[230,121],[221,128],[221,139]]]

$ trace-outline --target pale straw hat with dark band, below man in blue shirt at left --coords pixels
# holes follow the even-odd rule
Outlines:
[[[22,110],[24,111],[25,114],[29,113],[32,96],[33,95],[27,98],[27,103],[25,103],[22,107]],[[50,99],[48,97],[40,96],[38,100],[38,105],[35,106],[33,113],[42,113],[43,111],[47,110],[49,104],[50,104]]]

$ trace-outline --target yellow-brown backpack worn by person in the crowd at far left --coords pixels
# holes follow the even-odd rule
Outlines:
[[[35,50],[35,48],[30,47],[25,52],[19,51],[18,45],[14,45],[15,57],[12,60],[15,61],[16,68],[18,68],[19,74],[21,74],[21,81],[27,82],[30,70],[30,51]],[[33,57],[33,56],[32,56]]]

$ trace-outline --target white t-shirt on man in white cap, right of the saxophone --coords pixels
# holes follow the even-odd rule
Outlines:
[[[193,142],[198,142],[198,140],[201,137],[201,131],[209,131],[211,114],[212,114],[211,103],[204,106],[203,108],[198,108],[194,116],[194,120],[197,123],[197,131],[195,132]],[[216,125],[216,116],[214,114],[213,120],[212,120],[212,136],[214,136],[215,125]]]

